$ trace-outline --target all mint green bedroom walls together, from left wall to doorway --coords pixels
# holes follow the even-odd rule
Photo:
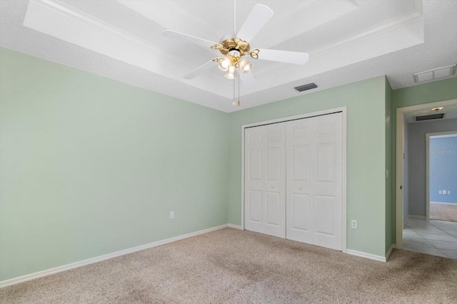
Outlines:
[[[384,256],[395,109],[457,98],[457,78],[391,90],[380,76],[227,114],[4,48],[0,80],[0,281],[240,225],[241,125],[342,106],[347,247]]]

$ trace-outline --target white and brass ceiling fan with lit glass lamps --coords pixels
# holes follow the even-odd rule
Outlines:
[[[273,11],[268,6],[256,4],[253,6],[251,13],[248,15],[246,21],[244,21],[238,33],[222,36],[219,43],[172,30],[163,31],[162,34],[166,37],[189,41],[204,48],[219,50],[223,55],[222,57],[214,58],[211,61],[200,65],[187,75],[184,75],[185,79],[195,78],[197,75],[200,75],[217,63],[219,69],[225,72],[224,76],[226,78],[234,79],[236,78],[236,73],[238,73],[243,85],[251,87],[255,83],[251,73],[249,73],[252,64],[243,58],[243,56],[249,55],[253,59],[278,61],[282,63],[304,64],[308,61],[308,53],[279,51],[268,48],[254,48],[251,50],[248,41],[251,41],[257,35],[261,28],[271,19],[273,14]]]

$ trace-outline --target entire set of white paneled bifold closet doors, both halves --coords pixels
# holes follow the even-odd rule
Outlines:
[[[245,129],[246,230],[342,248],[342,114]]]

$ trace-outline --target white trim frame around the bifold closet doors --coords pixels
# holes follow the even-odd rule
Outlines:
[[[309,117],[314,117],[314,116],[320,116],[320,115],[328,115],[336,112],[341,112],[342,115],[342,127],[343,127],[343,137],[342,137],[342,168],[341,168],[341,173],[343,174],[343,179],[342,179],[342,191],[341,191],[341,216],[342,216],[342,221],[341,221],[341,229],[342,229],[342,236],[341,236],[341,248],[344,253],[346,253],[347,246],[346,246],[346,229],[347,229],[347,219],[346,219],[346,133],[347,133],[347,127],[346,127],[346,112],[347,108],[346,107],[340,107],[340,108],[333,108],[333,109],[327,109],[327,110],[321,110],[317,112],[310,112],[310,113],[303,113],[300,115],[294,115],[294,116],[288,116],[288,117],[282,117],[282,118],[277,118],[274,120],[265,120],[262,122],[253,122],[247,125],[241,125],[241,229],[244,230],[244,129],[246,127],[258,127],[261,125],[269,125],[272,123],[278,123],[278,122],[286,122],[288,120],[299,120],[303,118],[309,118]]]

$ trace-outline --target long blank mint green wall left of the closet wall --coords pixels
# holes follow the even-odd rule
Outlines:
[[[0,79],[0,281],[227,223],[226,113],[4,48]]]

